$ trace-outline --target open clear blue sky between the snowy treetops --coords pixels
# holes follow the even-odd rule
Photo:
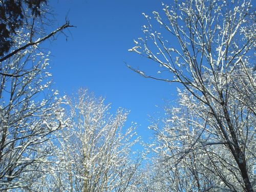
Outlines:
[[[113,109],[121,106],[131,110],[129,122],[137,122],[139,135],[147,140],[151,135],[148,115],[159,112],[155,105],[163,106],[163,99],[175,98],[177,84],[145,79],[128,69],[124,61],[142,71],[152,69],[152,62],[127,50],[134,46],[133,39],[142,35],[141,26],[146,24],[142,12],[160,11],[161,1],[54,2],[51,5],[57,25],[65,23],[68,13],[70,23],[77,26],[67,32],[68,41],[59,35],[50,46],[56,88],[62,95],[88,88],[96,96],[105,97]]]

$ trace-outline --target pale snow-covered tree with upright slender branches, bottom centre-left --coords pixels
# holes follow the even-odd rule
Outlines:
[[[109,104],[88,91],[68,99],[70,125],[57,133],[55,172],[38,184],[39,191],[135,191],[141,157],[135,127],[123,129],[127,112],[112,115]]]

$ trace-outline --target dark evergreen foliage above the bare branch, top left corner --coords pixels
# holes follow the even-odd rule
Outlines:
[[[41,38],[45,33],[45,27],[53,22],[52,11],[48,0],[3,0],[0,2],[0,59],[8,58],[9,51],[14,51],[15,36],[21,37],[22,30],[29,32],[30,44],[36,45],[34,39]],[[65,25],[64,25],[65,26]],[[64,27],[63,26],[63,27]],[[18,32],[18,33],[17,33]],[[25,47],[26,48],[26,47]],[[25,49],[23,48],[23,49]],[[22,49],[22,47],[19,47]],[[9,55],[10,56],[10,55]]]

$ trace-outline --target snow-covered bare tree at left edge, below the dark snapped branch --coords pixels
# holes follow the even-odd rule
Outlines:
[[[48,55],[34,49],[20,51],[1,62],[0,188],[28,187],[44,172],[51,148],[45,142],[65,126],[61,99],[51,91]]]

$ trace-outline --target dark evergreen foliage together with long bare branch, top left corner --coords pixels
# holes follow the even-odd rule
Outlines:
[[[65,34],[64,29],[73,27],[66,20],[64,25],[49,33],[54,17],[48,0],[4,0],[0,2],[0,11],[0,62],[19,51],[38,46],[59,31]]]

